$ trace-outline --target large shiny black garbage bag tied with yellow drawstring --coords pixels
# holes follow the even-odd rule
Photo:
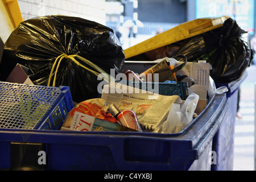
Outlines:
[[[98,73],[121,73],[124,61],[111,28],[71,16],[42,16],[20,23],[7,39],[0,80],[19,63],[30,69],[34,84],[69,86],[73,101],[81,102],[98,97]]]

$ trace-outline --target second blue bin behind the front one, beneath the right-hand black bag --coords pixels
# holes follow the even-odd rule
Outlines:
[[[221,123],[220,129],[213,138],[212,150],[216,151],[217,163],[212,165],[212,171],[232,171],[234,161],[234,133],[236,127],[238,89],[242,82],[247,77],[241,80],[230,82],[229,84],[216,84],[217,88],[226,86],[228,112]]]

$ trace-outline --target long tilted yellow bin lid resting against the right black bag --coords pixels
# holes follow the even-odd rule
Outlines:
[[[222,27],[228,16],[199,18],[185,22],[124,50],[125,59]]]

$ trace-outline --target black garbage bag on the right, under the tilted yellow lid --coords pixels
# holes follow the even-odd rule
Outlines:
[[[210,76],[222,84],[240,80],[253,59],[249,32],[232,18],[220,28],[185,40],[176,54],[188,61],[207,60],[213,67]]]

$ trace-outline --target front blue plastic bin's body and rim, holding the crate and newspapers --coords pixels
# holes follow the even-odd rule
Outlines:
[[[212,141],[228,111],[226,101],[225,93],[216,94],[177,134],[0,129],[0,169],[210,170]],[[47,155],[46,164],[36,165],[40,151]],[[15,159],[20,153],[30,162]]]

